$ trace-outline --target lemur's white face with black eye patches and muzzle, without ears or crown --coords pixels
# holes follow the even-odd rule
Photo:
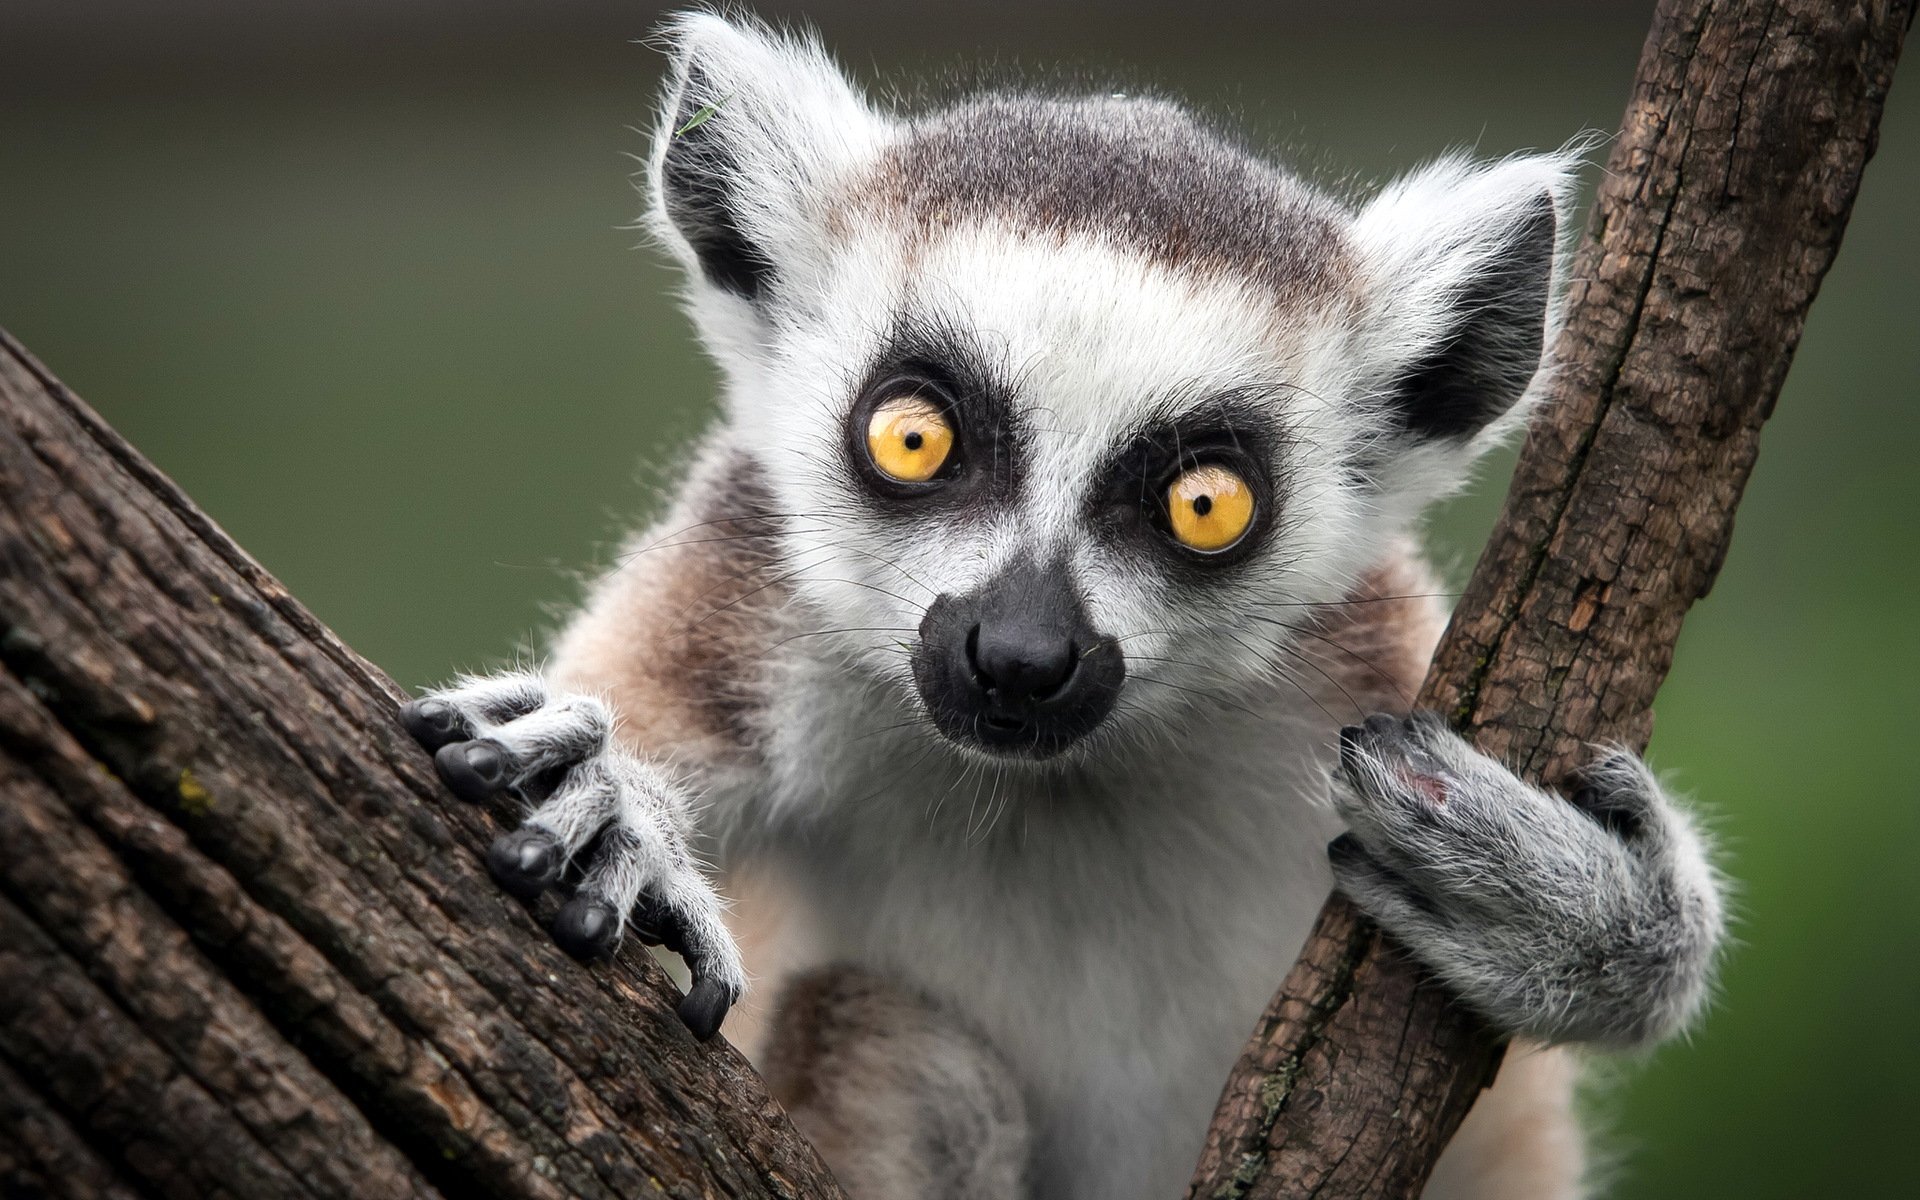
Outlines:
[[[795,499],[847,515],[808,538],[831,563],[810,574],[845,580],[820,584],[831,612],[908,628],[947,737],[1050,756],[1221,695],[1258,680],[1235,639],[1284,632],[1267,601],[1338,593],[1306,553],[1344,501],[1308,499],[1302,338],[1252,288],[899,209],[849,242],[781,386],[839,380],[803,419],[839,461],[795,461]]]

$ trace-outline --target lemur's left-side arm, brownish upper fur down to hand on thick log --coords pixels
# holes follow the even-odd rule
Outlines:
[[[682,954],[682,1016],[710,1037],[747,973],[703,870],[695,797],[739,795],[758,768],[756,664],[783,603],[772,516],[718,442],[670,515],[593,588],[545,672],[467,678],[405,720],[455,793],[532,804],[490,868],[538,895],[578,868],[553,937],[593,958],[626,929]]]

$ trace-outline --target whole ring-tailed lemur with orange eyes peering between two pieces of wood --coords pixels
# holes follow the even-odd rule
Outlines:
[[[1407,716],[1411,530],[1538,390],[1576,154],[1346,202],[1165,100],[904,115],[810,36],[664,38],[724,407],[543,670],[403,710],[530,804],[499,883],[678,952],[695,1035],[739,1004],[860,1200],[1179,1194],[1338,887],[1521,1039],[1428,1194],[1578,1194],[1565,1044],[1701,1006],[1703,837],[1632,753],[1569,801]]]

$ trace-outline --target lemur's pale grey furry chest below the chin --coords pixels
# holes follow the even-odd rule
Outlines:
[[[1041,1194],[1185,1183],[1331,885],[1323,770],[1279,741],[1213,772],[868,783],[860,820],[789,847],[826,958],[929,993],[1014,1066]]]

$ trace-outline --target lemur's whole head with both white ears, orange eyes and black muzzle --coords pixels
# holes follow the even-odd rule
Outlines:
[[[1048,758],[1271,685],[1517,420],[1567,154],[1357,209],[1162,100],[879,111],[668,27],[653,223],[799,603],[947,739]]]

